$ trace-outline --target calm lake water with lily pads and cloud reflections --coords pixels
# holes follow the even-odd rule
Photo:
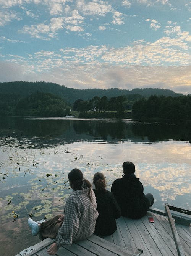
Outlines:
[[[71,169],[80,168],[90,181],[103,172],[110,189],[127,160],[144,192],[154,195],[155,208],[164,210],[167,202],[190,210],[191,122],[1,118],[0,255],[39,242],[28,214],[40,220],[63,212]]]

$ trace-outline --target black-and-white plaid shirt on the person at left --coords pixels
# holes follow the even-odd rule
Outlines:
[[[57,246],[71,245],[73,241],[83,240],[94,233],[98,217],[96,198],[92,188],[76,190],[71,193],[64,209],[64,221],[56,237]]]

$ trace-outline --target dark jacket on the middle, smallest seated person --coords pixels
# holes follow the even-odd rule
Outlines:
[[[99,236],[111,235],[117,230],[116,221],[121,216],[121,210],[112,192],[94,189],[97,211],[99,213],[95,223],[94,233]]]

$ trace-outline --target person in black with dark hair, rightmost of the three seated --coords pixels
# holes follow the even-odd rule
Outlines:
[[[154,203],[153,195],[144,195],[143,185],[134,175],[135,166],[132,162],[123,163],[123,177],[113,182],[113,192],[124,217],[138,219],[146,215]]]

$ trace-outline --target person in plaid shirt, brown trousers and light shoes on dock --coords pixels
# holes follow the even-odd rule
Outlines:
[[[57,215],[40,223],[28,219],[33,236],[39,234],[42,240],[47,237],[55,238],[55,243],[47,251],[50,255],[55,254],[62,245],[71,245],[73,241],[88,238],[95,229],[98,212],[90,182],[83,178],[79,169],[71,170],[68,180],[74,191],[66,201],[64,215]]]

